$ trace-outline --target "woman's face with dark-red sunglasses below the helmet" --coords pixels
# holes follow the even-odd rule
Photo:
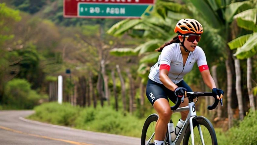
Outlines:
[[[200,40],[200,38],[198,38],[200,36],[185,36],[185,42],[184,42],[184,46],[188,51],[194,51],[196,46],[197,46],[197,41]],[[184,37],[179,38],[180,42],[183,42]],[[189,40],[188,40],[189,39]]]

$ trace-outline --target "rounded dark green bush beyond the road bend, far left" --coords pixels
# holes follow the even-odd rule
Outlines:
[[[32,90],[27,80],[15,78],[5,86],[2,107],[4,109],[33,109],[35,105],[38,105],[39,100],[45,97]]]

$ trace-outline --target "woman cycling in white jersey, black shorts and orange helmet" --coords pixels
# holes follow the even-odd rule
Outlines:
[[[165,43],[156,51],[161,52],[158,62],[150,68],[146,96],[159,114],[155,126],[155,145],[163,145],[167,124],[172,111],[169,99],[176,101],[176,97],[185,95],[185,91],[192,89],[183,80],[185,74],[190,72],[195,62],[201,72],[204,83],[212,89],[218,99],[223,97],[224,92],[216,88],[210,74],[204,51],[197,43],[203,33],[202,25],[195,19],[181,19],[176,24],[175,33],[178,33],[171,41]],[[168,99],[169,98],[169,99]],[[188,99],[179,107],[188,105]],[[181,112],[181,119],[175,128],[175,134],[179,133],[189,111]]]

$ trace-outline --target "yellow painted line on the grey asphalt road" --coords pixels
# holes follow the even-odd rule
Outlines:
[[[52,138],[52,137],[48,137],[48,136],[40,136],[40,135],[36,135],[36,134],[25,133],[25,132],[10,129],[10,128],[4,127],[4,126],[0,126],[0,128],[4,129],[4,130],[15,132],[15,133],[20,133],[20,134],[25,134],[25,135],[29,135],[29,136],[45,138],[45,139],[49,139],[49,140],[57,140],[57,141],[62,141],[62,142],[71,143],[71,144],[75,144],[75,145],[92,145],[92,144],[87,144],[87,143],[80,143],[80,142],[76,142],[76,141],[71,141],[71,140],[62,140],[62,139]]]

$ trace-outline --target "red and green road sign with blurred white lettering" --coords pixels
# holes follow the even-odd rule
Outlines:
[[[140,18],[151,12],[155,0],[64,0],[66,18]]]

